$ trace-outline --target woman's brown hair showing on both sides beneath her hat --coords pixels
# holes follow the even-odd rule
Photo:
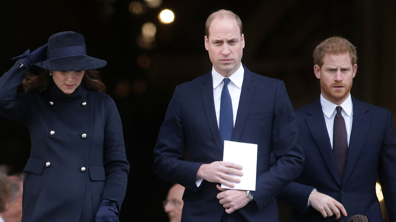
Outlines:
[[[40,68],[37,74],[27,72],[23,79],[22,86],[25,92],[41,92],[46,90],[52,81],[49,70]],[[85,70],[81,82],[88,89],[103,93],[106,92],[106,86],[101,82],[99,72],[95,69]]]

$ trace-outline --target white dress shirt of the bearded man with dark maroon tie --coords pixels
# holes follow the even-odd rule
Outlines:
[[[320,94],[320,104],[322,105],[324,120],[326,121],[326,127],[328,132],[328,137],[330,138],[330,143],[333,147],[333,129],[334,129],[334,117],[337,114],[336,107],[338,105],[334,104],[323,98],[322,94]],[[353,105],[351,94],[349,94],[348,98],[340,105],[342,107],[342,117],[345,120],[345,127],[347,131],[348,145],[349,145],[349,137],[351,136],[352,130],[352,119],[353,119]]]

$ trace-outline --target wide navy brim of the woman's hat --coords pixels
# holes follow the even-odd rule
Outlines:
[[[81,71],[105,67],[107,62],[87,55],[47,59],[33,65],[52,71]]]

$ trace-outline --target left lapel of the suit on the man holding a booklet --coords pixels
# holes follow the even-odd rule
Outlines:
[[[219,151],[223,154],[223,142],[220,138],[219,127],[217,126],[216,110],[214,107],[213,80],[211,72],[207,73],[204,77],[204,81],[201,85],[201,97],[210,131]]]

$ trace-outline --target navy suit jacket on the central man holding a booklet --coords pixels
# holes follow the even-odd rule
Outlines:
[[[304,156],[284,83],[244,68],[232,140],[258,144],[256,191],[254,201],[230,214],[229,221],[278,221],[273,198],[301,172]],[[184,151],[189,161],[182,160]],[[277,165],[270,168],[271,152]],[[154,149],[154,172],[186,187],[183,221],[220,221],[224,208],[216,184],[204,180],[197,188],[195,179],[202,164],[222,158],[209,72],[176,87]]]

